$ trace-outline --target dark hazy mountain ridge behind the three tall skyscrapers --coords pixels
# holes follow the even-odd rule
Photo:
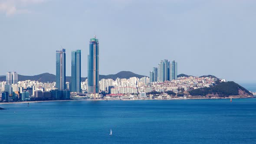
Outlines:
[[[117,74],[114,75],[99,75],[99,79],[129,79],[131,77],[137,77],[137,78],[142,78],[142,77],[147,77],[144,75],[138,75],[133,72],[128,72],[128,71],[121,71],[118,72]],[[85,81],[86,78],[81,78],[82,82]],[[56,75],[50,74],[50,73],[43,73],[40,75],[33,75],[33,76],[28,76],[28,75],[18,75],[18,81],[25,81],[25,80],[31,80],[31,81],[39,81],[39,82],[55,82],[56,81]],[[0,82],[6,81],[5,76],[0,77]],[[71,82],[71,76],[66,76],[66,82]]]

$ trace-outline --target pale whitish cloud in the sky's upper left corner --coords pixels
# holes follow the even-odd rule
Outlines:
[[[26,7],[31,4],[43,3],[46,0],[0,0],[0,13],[11,16],[20,13],[30,13]]]

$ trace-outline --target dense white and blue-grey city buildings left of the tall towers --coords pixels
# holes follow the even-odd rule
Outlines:
[[[7,73],[8,74],[8,73]],[[0,82],[0,101],[64,100],[70,98],[69,90],[58,90],[56,82],[19,81],[16,84]]]

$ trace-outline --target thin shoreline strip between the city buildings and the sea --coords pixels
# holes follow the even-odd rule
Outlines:
[[[195,100],[195,99],[230,99],[225,98],[171,98],[171,99],[108,99],[108,101],[141,101],[141,100]],[[240,98],[256,98],[256,97],[232,97],[233,99]],[[70,99],[70,100],[51,100],[51,101],[16,101],[16,102],[0,102],[0,105],[6,104],[22,104],[22,103],[38,103],[38,102],[60,102],[60,101],[105,101],[106,99]]]

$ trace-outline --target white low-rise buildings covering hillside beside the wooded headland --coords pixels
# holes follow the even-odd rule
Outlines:
[[[177,94],[181,91],[187,91],[197,88],[210,87],[215,85],[218,79],[209,77],[180,77],[171,81],[165,82],[152,82],[146,85],[142,85],[137,88],[137,93],[119,93],[119,94],[109,94],[106,95],[107,99],[176,99],[176,98],[187,98],[190,95],[183,95],[182,97],[177,97]],[[220,80],[225,82],[226,80]],[[168,91],[174,92],[175,95],[168,95]],[[154,95],[154,93],[158,93]]]

